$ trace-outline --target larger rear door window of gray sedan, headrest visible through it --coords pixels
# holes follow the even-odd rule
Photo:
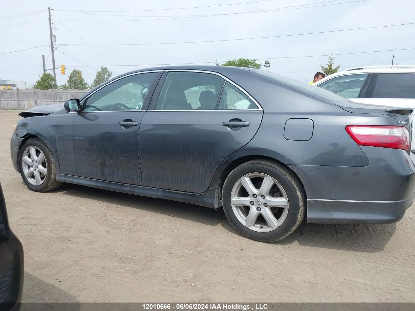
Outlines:
[[[209,73],[169,72],[157,99],[156,110],[212,110],[224,79]]]

